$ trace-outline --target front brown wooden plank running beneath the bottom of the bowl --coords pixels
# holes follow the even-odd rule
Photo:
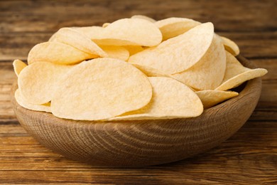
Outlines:
[[[231,178],[233,184],[274,184],[277,182],[275,125],[276,122],[247,122],[234,136],[209,152],[180,162],[136,169],[74,162],[44,149],[19,125],[0,125],[0,133],[6,133],[0,137],[0,183],[14,183],[11,176],[21,176],[18,179],[21,183],[229,184]]]

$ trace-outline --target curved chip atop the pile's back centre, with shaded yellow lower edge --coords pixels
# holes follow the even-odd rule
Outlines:
[[[162,34],[158,27],[141,18],[123,18],[104,28],[101,38],[92,38],[99,45],[156,46]]]

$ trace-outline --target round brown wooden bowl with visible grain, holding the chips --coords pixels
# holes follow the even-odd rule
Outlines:
[[[254,65],[238,59],[248,68]],[[261,94],[261,78],[237,97],[189,119],[95,122],[65,120],[12,104],[16,117],[40,144],[95,166],[149,166],[175,162],[216,147],[244,125]]]

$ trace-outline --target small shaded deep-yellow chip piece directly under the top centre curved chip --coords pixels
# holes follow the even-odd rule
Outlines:
[[[109,58],[117,58],[120,60],[128,60],[129,51],[121,46],[100,46]]]

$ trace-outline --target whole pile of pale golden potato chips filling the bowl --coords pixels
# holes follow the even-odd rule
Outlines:
[[[14,60],[15,97],[30,110],[72,120],[197,117],[267,73],[245,68],[233,41],[189,18],[123,18],[60,28]]]

